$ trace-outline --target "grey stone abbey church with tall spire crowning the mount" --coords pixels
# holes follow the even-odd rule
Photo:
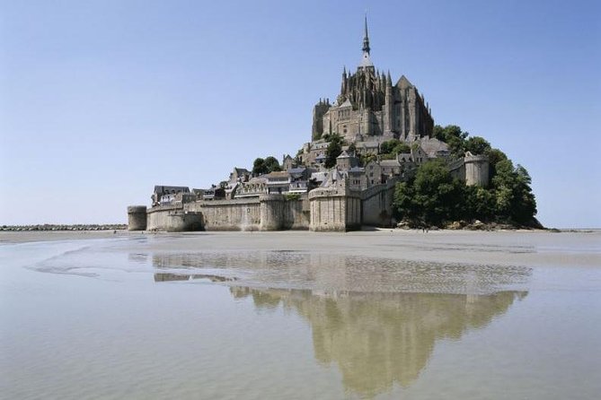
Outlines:
[[[349,142],[402,139],[413,141],[432,134],[429,105],[402,75],[395,84],[390,72],[377,71],[371,61],[367,18],[363,56],[354,74],[342,72],[340,94],[331,105],[320,100],[313,111],[313,140],[338,134]]]

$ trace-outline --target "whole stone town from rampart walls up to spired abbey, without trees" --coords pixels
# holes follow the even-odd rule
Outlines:
[[[155,186],[152,206],[128,207],[130,230],[356,230],[392,226],[396,184],[440,159],[467,185],[486,186],[489,161],[457,156],[432,137],[429,104],[404,75],[393,84],[363,55],[342,73],[340,94],[313,109],[311,142],[295,157],[234,168],[212,187]]]

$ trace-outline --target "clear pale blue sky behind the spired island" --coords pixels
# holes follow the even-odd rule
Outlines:
[[[0,225],[127,221],[155,185],[296,154],[361,57],[601,228],[601,2],[0,0]]]

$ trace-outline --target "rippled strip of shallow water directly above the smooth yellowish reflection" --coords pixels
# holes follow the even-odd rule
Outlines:
[[[155,253],[156,272],[214,274],[238,284],[333,291],[479,293],[526,288],[531,270],[512,265],[417,262],[299,251]],[[156,281],[166,280],[156,277]]]

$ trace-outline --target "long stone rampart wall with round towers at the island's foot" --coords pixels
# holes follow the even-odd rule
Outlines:
[[[358,230],[390,226],[396,179],[365,191],[348,179],[299,196],[261,195],[233,200],[128,207],[129,230]]]

